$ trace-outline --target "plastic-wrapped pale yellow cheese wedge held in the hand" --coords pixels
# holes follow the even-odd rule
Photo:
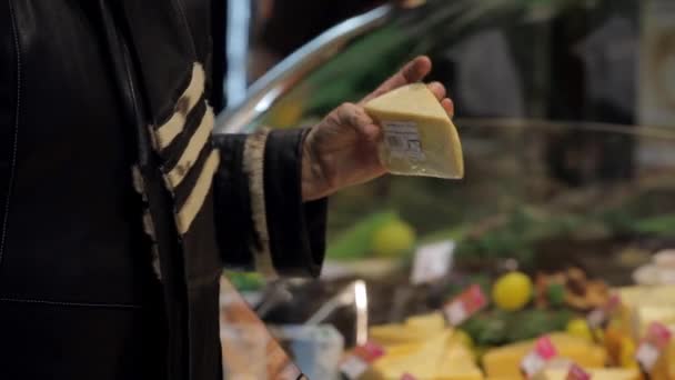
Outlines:
[[[423,83],[390,91],[365,104],[382,126],[380,160],[394,174],[463,178],[462,144],[455,126]]]

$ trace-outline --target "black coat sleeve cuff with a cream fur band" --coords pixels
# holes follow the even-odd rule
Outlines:
[[[225,266],[266,277],[316,277],[325,249],[325,199],[303,202],[306,130],[214,137],[215,228]]]

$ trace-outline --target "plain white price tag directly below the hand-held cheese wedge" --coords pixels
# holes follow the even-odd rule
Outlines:
[[[450,240],[420,247],[415,252],[411,283],[427,283],[443,278],[452,264],[455,243]]]

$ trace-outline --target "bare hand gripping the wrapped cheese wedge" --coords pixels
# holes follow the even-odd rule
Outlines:
[[[419,82],[431,71],[431,60],[417,57],[359,103],[344,103],[309,132],[302,158],[302,198],[305,201],[326,197],[336,190],[384,174],[377,157],[382,129],[365,113],[369,100],[399,87]],[[445,87],[427,84],[445,111],[452,116],[452,101]]]

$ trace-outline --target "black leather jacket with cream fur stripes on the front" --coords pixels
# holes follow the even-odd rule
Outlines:
[[[319,273],[303,131],[211,137],[213,6],[0,2],[0,379],[218,379],[223,266]]]

